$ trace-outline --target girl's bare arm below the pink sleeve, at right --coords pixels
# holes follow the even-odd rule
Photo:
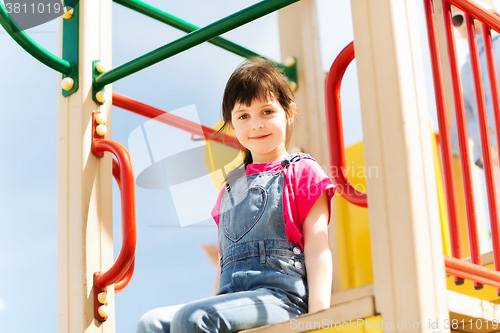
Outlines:
[[[309,313],[330,307],[332,253],[328,245],[329,217],[330,204],[325,191],[312,206],[302,227],[309,286]]]

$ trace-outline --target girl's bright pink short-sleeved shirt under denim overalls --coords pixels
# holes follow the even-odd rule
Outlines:
[[[249,164],[245,175],[277,171],[282,168],[280,164],[281,161]],[[319,164],[308,158],[302,158],[290,164],[288,170],[285,171],[285,175],[283,211],[285,214],[286,235],[289,242],[299,244],[304,248],[302,224],[309,210],[324,191],[327,191],[328,202],[331,204],[335,194],[335,185],[332,184]],[[220,202],[224,191],[225,188],[220,191],[215,207],[212,210],[212,217],[217,226],[219,225]],[[330,220],[328,220],[328,223],[330,223]]]

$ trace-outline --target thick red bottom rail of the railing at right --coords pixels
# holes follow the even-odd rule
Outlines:
[[[472,280],[477,285],[484,283],[500,288],[500,272],[448,256],[444,256],[444,264],[447,274],[458,275]]]

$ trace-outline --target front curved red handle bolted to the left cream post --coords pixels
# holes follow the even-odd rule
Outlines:
[[[122,248],[113,266],[105,273],[94,274],[94,287],[105,289],[118,282],[129,270],[134,261],[136,245],[135,223],[135,179],[132,160],[128,151],[121,144],[111,140],[94,140],[96,152],[111,152],[120,165],[120,192],[122,206]]]

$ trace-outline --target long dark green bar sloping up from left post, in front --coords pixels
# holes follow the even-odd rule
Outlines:
[[[184,37],[146,53],[138,58],[115,67],[101,75],[94,81],[95,88],[100,89],[126,76],[134,74],[146,67],[152,66],[162,60],[190,49],[196,45],[211,40],[230,30],[256,20],[280,8],[286,7],[299,0],[264,0],[253,6],[240,10],[219,21],[197,29]]]

